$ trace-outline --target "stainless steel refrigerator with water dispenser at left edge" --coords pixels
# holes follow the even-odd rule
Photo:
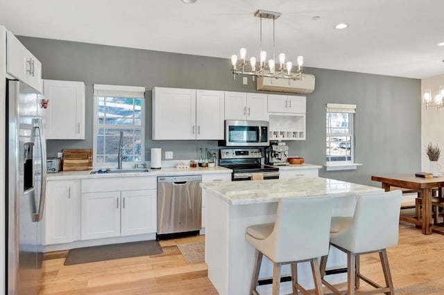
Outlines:
[[[42,283],[46,141],[38,116],[43,98],[6,80],[6,220],[8,294],[37,294]]]

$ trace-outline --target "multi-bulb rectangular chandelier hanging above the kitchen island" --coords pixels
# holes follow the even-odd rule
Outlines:
[[[259,51],[259,65],[256,66],[256,57],[250,57],[250,71],[246,71],[246,48],[241,48],[240,58],[238,60],[237,55],[231,56],[233,80],[236,75],[250,75],[255,77],[270,77],[276,79],[288,79],[288,80],[302,80],[302,64],[304,63],[304,57],[298,56],[298,68],[292,72],[293,63],[285,62],[285,54],[279,55],[279,68],[275,69],[275,20],[280,17],[280,12],[272,12],[266,10],[257,10],[255,17],[260,18],[260,51]],[[266,51],[262,51],[262,19],[273,19],[273,58],[266,63]]]

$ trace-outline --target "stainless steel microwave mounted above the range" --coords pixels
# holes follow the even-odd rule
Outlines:
[[[268,122],[248,120],[225,120],[226,146],[266,146]]]

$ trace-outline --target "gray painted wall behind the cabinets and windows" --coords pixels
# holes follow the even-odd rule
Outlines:
[[[255,84],[232,80],[228,59],[181,55],[133,48],[102,46],[53,39],[19,37],[43,64],[42,77],[78,80],[86,84],[85,141],[48,141],[48,155],[63,148],[92,148],[92,85],[144,86],[146,91],[146,159],[150,147],[174,152],[174,159],[196,159],[199,147],[216,147],[216,141],[152,141],[151,91],[182,87],[255,92]],[[307,163],[325,164],[325,103],[357,105],[355,159],[357,170],[326,172],[321,177],[379,184],[370,175],[420,170],[420,80],[328,69],[306,69],[316,76],[307,95],[307,141],[287,142],[289,154]]]

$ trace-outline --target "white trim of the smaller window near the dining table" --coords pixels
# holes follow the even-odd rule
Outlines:
[[[325,105],[326,112],[332,113],[356,113],[356,105],[345,105],[338,103],[327,103]],[[362,163],[355,163],[355,118],[352,120],[352,138],[350,144],[352,145],[351,156],[352,161],[326,161],[325,169],[327,171],[338,171],[338,170],[357,170],[357,166],[362,166]]]

